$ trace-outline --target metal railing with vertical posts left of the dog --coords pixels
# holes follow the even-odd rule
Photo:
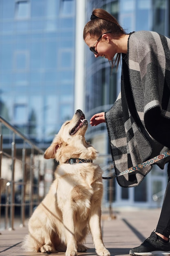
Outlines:
[[[0,117],[0,229],[24,226],[45,193],[44,151]]]

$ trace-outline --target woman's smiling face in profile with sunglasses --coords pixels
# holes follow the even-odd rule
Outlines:
[[[95,49],[95,51],[97,52],[97,54],[94,54],[96,58],[102,56],[111,61],[117,53],[115,50],[116,47],[114,47],[114,43],[108,34],[103,34],[100,39],[93,38],[88,35],[86,36],[84,41],[89,48],[93,47]]]

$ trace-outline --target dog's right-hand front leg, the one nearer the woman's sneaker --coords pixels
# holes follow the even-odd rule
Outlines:
[[[101,230],[101,209],[92,211],[89,219],[89,226],[93,237],[96,253],[99,256],[110,256],[110,252],[104,246]]]

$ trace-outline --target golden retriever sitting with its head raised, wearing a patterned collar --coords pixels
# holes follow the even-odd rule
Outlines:
[[[77,110],[46,149],[46,159],[59,162],[49,193],[29,219],[23,247],[28,252],[86,252],[82,245],[91,231],[96,253],[109,256],[101,232],[102,169],[94,164],[97,151],[85,140],[88,121]]]

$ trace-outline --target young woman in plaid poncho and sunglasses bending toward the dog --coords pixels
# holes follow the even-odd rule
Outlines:
[[[91,117],[106,122],[116,174],[170,149],[170,39],[153,31],[127,34],[103,9],[95,9],[84,27],[84,40],[95,58],[112,67],[122,60],[121,93],[108,112]],[[117,54],[117,55],[116,55]],[[113,58],[116,60],[113,63]],[[170,157],[159,162],[164,168]],[[117,177],[122,187],[138,186],[151,166]],[[170,164],[168,185],[155,232],[130,255],[170,255]]]

